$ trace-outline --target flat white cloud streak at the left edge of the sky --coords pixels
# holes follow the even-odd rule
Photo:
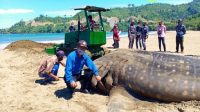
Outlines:
[[[0,9],[0,15],[2,14],[20,14],[20,13],[33,13],[34,10],[30,9]]]

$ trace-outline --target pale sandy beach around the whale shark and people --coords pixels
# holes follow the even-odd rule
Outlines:
[[[185,35],[184,53],[175,52],[175,32],[166,35],[168,53],[200,56],[200,31]],[[108,39],[104,47],[112,47]],[[0,111],[1,112],[200,112],[199,101],[159,103],[139,100],[119,90],[113,97],[76,92],[70,98],[62,78],[53,84],[41,85],[37,75],[40,62],[47,56],[44,48],[51,44],[30,41],[16,42],[0,51]],[[128,48],[128,38],[121,38],[120,48]],[[134,49],[135,49],[134,43]],[[147,51],[158,51],[157,35],[150,35]],[[63,76],[64,68],[59,69]],[[129,97],[127,97],[129,96]],[[110,108],[115,102],[117,108]]]

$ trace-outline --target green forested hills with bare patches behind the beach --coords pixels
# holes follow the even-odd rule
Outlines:
[[[84,22],[83,12],[70,18],[40,15],[30,21],[20,21],[9,29],[1,29],[0,33],[67,32],[72,21],[77,23],[78,15],[81,17],[81,22]],[[156,28],[158,21],[163,20],[168,30],[174,30],[179,18],[184,19],[187,29],[200,30],[200,0],[193,0],[188,4],[181,5],[148,4],[136,7],[134,4],[128,4],[127,7],[113,8],[109,12],[104,12],[102,16],[107,31],[110,31],[115,22],[118,22],[120,30],[126,31],[129,21],[132,19],[147,21],[151,30]],[[93,17],[98,21],[96,14]]]

